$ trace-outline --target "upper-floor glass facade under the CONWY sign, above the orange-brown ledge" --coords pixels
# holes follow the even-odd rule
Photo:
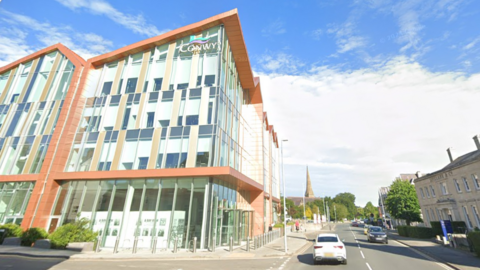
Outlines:
[[[195,38],[208,39],[196,52]],[[107,63],[91,76],[96,87],[85,90],[65,171],[230,166],[253,178],[259,162],[242,146],[256,136],[241,117],[248,91],[223,26]]]

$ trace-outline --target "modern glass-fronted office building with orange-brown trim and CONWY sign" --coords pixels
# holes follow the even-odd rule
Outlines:
[[[63,90],[35,90],[45,77],[43,89]],[[47,48],[0,69],[0,92],[0,223],[53,231],[87,218],[104,247],[196,237],[206,249],[277,218],[278,138],[236,10],[87,62]]]

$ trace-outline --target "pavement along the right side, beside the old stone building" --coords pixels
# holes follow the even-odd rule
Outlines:
[[[416,239],[399,236],[396,230],[388,231],[388,237],[426,254],[453,269],[478,270],[480,268],[480,258],[474,253],[444,246],[443,244],[436,243],[434,240],[430,239]]]

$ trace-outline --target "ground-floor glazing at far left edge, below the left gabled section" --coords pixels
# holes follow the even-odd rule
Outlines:
[[[0,183],[0,224],[22,223],[34,185],[34,182]]]

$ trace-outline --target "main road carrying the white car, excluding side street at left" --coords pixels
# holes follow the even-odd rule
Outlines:
[[[449,267],[433,262],[415,250],[389,239],[388,244],[369,243],[363,228],[350,227],[349,224],[339,224],[335,233],[345,240],[348,264],[327,263],[321,266],[313,265],[312,246],[301,254],[291,258],[282,270],[303,269],[355,269],[355,270],[445,270]],[[314,239],[315,235],[307,235]]]

